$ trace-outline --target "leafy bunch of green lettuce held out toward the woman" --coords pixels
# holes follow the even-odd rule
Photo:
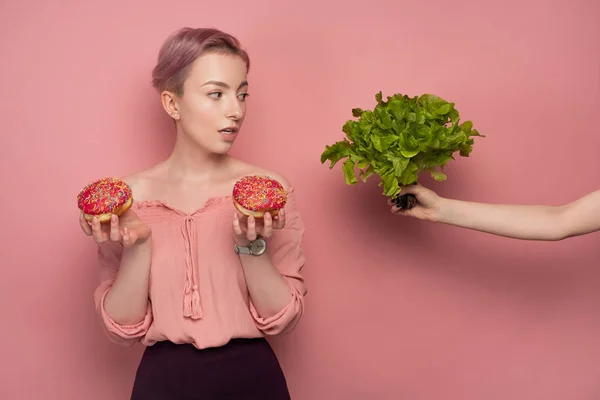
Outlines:
[[[460,122],[454,103],[438,96],[397,93],[384,101],[379,92],[375,100],[372,110],[352,109],[356,119],[343,125],[346,137],[325,146],[321,154],[321,164],[329,161],[330,169],[343,162],[348,185],[378,175],[383,194],[393,198],[401,186],[416,182],[421,173],[429,173],[437,181],[446,180],[442,170],[454,160],[454,154],[468,157],[475,143],[473,137],[485,137],[473,129],[471,121]]]

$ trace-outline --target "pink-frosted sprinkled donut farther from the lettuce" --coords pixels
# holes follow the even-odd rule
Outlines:
[[[86,220],[94,217],[110,221],[112,214],[121,216],[133,204],[133,193],[119,178],[102,178],[86,185],[77,195],[77,206]]]

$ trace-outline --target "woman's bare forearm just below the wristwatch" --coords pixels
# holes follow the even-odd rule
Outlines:
[[[263,318],[277,314],[292,300],[292,292],[268,253],[240,255],[246,285],[256,311]]]

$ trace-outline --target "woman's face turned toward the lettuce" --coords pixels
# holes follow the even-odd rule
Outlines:
[[[224,154],[246,116],[247,68],[236,55],[208,53],[192,64],[175,100],[183,133],[210,153]]]

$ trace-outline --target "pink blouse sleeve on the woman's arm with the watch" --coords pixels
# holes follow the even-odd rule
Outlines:
[[[285,211],[287,213],[285,227],[274,233],[267,246],[273,264],[290,287],[292,298],[281,311],[268,318],[262,318],[250,300],[250,312],[256,326],[266,335],[291,332],[304,313],[304,296],[307,293],[301,275],[305,264],[302,250],[304,224],[296,209],[293,193],[288,198]]]

